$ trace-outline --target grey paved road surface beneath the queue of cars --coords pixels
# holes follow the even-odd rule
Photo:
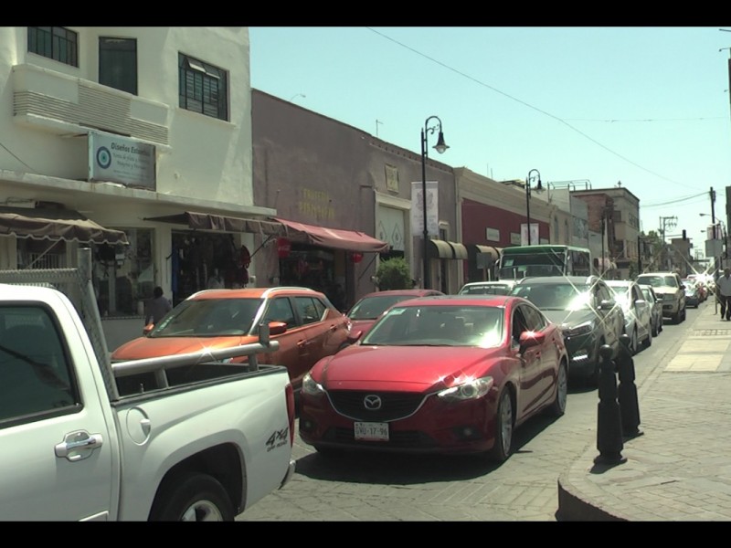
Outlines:
[[[701,307],[711,306],[708,301]],[[637,383],[662,362],[688,321],[666,323],[634,357]],[[557,479],[596,447],[596,390],[572,387],[567,413],[537,416],[516,432],[516,450],[497,466],[474,457],[352,455],[325,458],[295,438],[297,472],[239,522],[556,522]]]

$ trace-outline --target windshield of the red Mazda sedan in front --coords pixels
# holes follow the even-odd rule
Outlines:
[[[361,344],[378,346],[498,346],[504,309],[488,306],[395,306]]]

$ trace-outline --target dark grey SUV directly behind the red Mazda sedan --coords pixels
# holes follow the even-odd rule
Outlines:
[[[546,276],[518,280],[511,295],[524,297],[561,326],[570,358],[569,378],[597,385],[599,348],[614,355],[624,332],[624,313],[598,276]]]

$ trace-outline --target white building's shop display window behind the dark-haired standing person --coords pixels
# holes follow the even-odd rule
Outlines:
[[[101,316],[143,315],[144,301],[153,296],[155,282],[153,230],[124,230],[129,246],[94,246],[94,290]]]

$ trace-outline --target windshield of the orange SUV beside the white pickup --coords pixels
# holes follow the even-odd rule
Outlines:
[[[216,337],[244,335],[263,300],[201,299],[184,300],[158,323],[150,337]]]

